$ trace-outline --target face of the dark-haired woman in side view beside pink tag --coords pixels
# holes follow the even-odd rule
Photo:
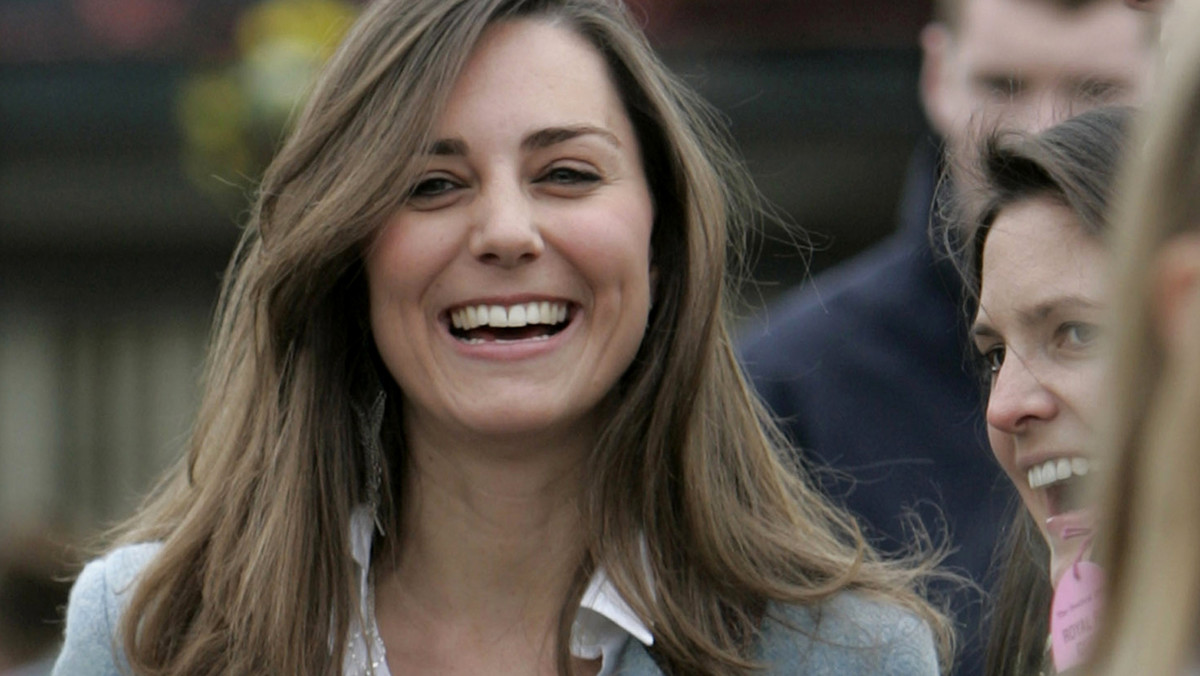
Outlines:
[[[976,349],[990,379],[988,438],[1050,545],[1051,575],[1087,539],[1070,532],[1088,471],[1106,305],[1103,245],[1049,197],[1003,209],[984,244]]]

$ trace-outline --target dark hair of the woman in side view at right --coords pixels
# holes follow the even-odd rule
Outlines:
[[[978,307],[983,247],[1001,211],[1030,198],[1066,204],[1084,232],[1103,239],[1109,198],[1123,154],[1129,108],[1097,108],[1040,133],[997,132],[982,144],[978,166],[955,173],[958,216],[943,243],[967,288],[967,317]],[[990,614],[984,674],[1027,676],[1043,668],[1050,632],[1050,550],[1028,510],[1014,497],[1013,521],[997,552],[1000,580]]]

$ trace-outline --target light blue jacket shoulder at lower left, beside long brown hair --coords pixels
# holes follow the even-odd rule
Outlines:
[[[54,674],[101,676],[120,674],[116,627],[138,574],[158,552],[160,544],[116,548],[84,567],[67,602],[62,651]]]

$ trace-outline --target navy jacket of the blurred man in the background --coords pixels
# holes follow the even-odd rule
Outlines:
[[[822,485],[876,544],[911,540],[907,512],[956,549],[947,566],[982,585],[1012,489],[988,448],[962,285],[935,252],[938,162],[930,140],[910,166],[900,226],[769,307],[740,345],[745,369]],[[982,672],[983,599],[954,594],[964,654]]]

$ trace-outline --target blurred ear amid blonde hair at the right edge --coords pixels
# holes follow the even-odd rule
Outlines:
[[[1153,313],[1159,340],[1175,351],[1192,343],[1200,282],[1200,233],[1176,235],[1154,259]]]

